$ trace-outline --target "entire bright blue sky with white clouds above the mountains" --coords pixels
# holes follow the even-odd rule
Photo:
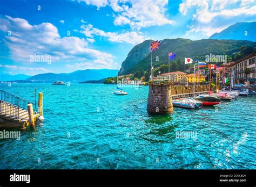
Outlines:
[[[0,73],[116,69],[146,39],[205,39],[255,20],[254,0],[2,0]]]

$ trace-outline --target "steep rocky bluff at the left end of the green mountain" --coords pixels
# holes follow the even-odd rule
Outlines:
[[[119,71],[120,75],[124,74],[126,69],[130,69],[135,66],[138,61],[144,59],[144,57],[146,57],[150,53],[151,41],[152,40],[145,40],[141,44],[138,44],[132,48],[132,50],[122,63],[122,68]]]

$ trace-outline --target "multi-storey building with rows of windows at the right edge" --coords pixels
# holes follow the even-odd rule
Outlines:
[[[231,80],[232,69],[234,70],[234,84],[245,83],[246,74],[245,69],[250,69],[250,74],[248,74],[247,85],[256,83],[256,52],[253,52],[242,59],[224,64],[224,75]]]

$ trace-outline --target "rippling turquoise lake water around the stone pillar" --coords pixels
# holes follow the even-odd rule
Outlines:
[[[0,140],[0,169],[256,169],[256,97],[150,116],[148,87],[117,96],[113,85],[0,84],[31,101],[34,89],[45,120]]]

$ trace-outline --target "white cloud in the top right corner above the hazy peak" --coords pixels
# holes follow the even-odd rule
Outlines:
[[[186,0],[179,4],[179,12],[184,16],[190,16],[188,11],[192,8],[196,8],[196,13],[191,15],[186,36],[202,34],[208,38],[237,22],[256,20],[256,5],[251,0]]]

